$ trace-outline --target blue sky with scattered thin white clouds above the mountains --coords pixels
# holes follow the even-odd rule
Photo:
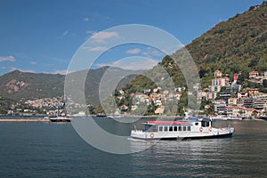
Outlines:
[[[182,44],[190,44],[220,21],[262,3],[263,0],[0,0],[0,76],[15,69],[64,74],[86,40],[94,36],[104,44],[105,37],[118,36],[117,33],[102,33],[106,36],[96,36],[97,39],[95,34],[120,25],[160,28]],[[92,69],[116,66],[119,60],[133,56],[140,56],[135,65],[126,61],[127,65],[120,62],[119,67],[146,69],[165,56],[144,44],[125,44],[111,50],[97,45],[89,50],[105,51],[93,61]]]

